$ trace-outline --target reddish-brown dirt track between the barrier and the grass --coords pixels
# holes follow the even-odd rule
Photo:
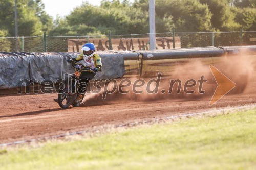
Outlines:
[[[256,82],[248,84],[241,94],[225,95],[214,106],[211,96],[201,99],[169,99],[151,102],[105,103],[60,109],[53,101],[55,94],[2,95],[0,98],[0,144],[24,139],[45,137],[85,130],[105,124],[118,125],[135,120],[146,120],[227,106],[256,103]]]

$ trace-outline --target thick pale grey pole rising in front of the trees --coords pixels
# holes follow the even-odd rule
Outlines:
[[[150,0],[150,50],[156,49],[155,0]]]

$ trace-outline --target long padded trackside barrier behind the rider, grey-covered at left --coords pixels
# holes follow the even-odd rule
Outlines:
[[[203,61],[209,64],[217,62],[220,57],[236,55],[244,51],[249,55],[256,55],[256,46],[99,51],[97,53],[101,56],[103,69],[102,72],[97,72],[94,79],[154,77],[159,72],[164,76],[172,72],[172,69],[166,69],[166,66],[182,67],[184,61]],[[67,59],[77,57],[79,54],[77,52],[0,52],[0,94],[6,89],[21,87],[22,83],[22,86],[34,84],[47,86],[65,79],[65,73],[74,72]],[[25,79],[29,81],[21,81]]]

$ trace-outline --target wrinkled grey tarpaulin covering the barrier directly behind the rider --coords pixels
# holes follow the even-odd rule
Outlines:
[[[27,83],[45,83],[49,82],[49,79],[51,82],[56,82],[58,79],[64,79],[65,73],[74,72],[74,68],[67,62],[67,59],[78,55],[79,53],[72,52],[0,52],[0,89],[19,87],[20,83],[17,82],[23,82],[21,81],[23,79],[29,80]],[[111,79],[124,75],[122,54],[99,55],[103,69],[102,72],[97,72],[95,79]]]

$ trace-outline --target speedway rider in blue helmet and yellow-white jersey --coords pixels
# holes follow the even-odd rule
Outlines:
[[[101,71],[102,64],[101,58],[98,54],[95,53],[95,46],[93,43],[86,43],[82,46],[82,53],[77,56],[77,58],[68,59],[67,62],[71,63],[71,65],[76,69],[80,70],[83,68],[81,64],[76,64],[78,61],[83,61],[84,67],[90,67],[91,69],[88,71],[84,71],[83,74],[80,74],[78,77],[78,95],[76,98],[76,103],[79,106],[80,102],[83,99],[84,93],[86,93],[86,87],[90,80],[92,80],[96,74],[96,72]],[[54,99],[57,102],[57,99]]]

